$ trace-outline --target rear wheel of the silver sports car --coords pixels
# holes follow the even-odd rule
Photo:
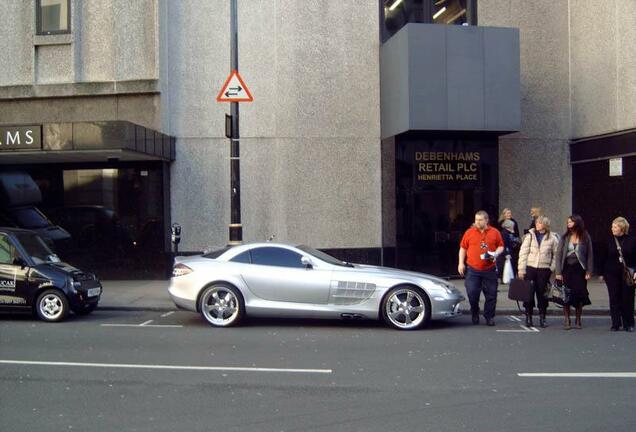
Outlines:
[[[226,284],[211,285],[201,294],[199,310],[203,318],[215,327],[230,327],[243,318],[245,304],[243,296],[234,287]]]

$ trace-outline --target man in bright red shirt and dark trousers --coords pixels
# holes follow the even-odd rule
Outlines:
[[[459,244],[457,271],[465,276],[464,286],[470,302],[473,324],[479,324],[479,296],[484,292],[484,318],[495,325],[497,307],[497,265],[495,260],[503,252],[504,243],[498,229],[488,225],[488,213],[475,213],[475,223],[464,233]]]

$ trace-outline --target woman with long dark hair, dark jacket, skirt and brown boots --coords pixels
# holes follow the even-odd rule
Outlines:
[[[572,328],[570,306],[574,307],[576,318],[574,327],[582,328],[583,306],[592,304],[587,290],[587,281],[592,277],[594,255],[592,239],[585,230],[583,218],[573,214],[568,218],[567,230],[559,242],[556,262],[556,279],[570,288],[570,301],[563,305],[564,328]]]

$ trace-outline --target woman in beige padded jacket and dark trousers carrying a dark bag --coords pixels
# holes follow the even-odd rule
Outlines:
[[[537,298],[537,306],[539,307],[540,327],[546,326],[545,315],[548,310],[548,299],[545,297],[545,290],[550,281],[550,275],[556,267],[558,247],[558,236],[550,232],[550,219],[539,216],[535,220],[535,227],[524,236],[519,251],[519,278],[534,282],[534,296]],[[526,325],[532,326],[534,299],[528,303],[524,302],[523,306],[526,309]]]

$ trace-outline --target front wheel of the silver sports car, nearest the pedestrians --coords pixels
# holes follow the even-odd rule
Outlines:
[[[415,287],[393,288],[382,302],[384,321],[398,330],[415,330],[428,322],[431,306],[420,289]]]

